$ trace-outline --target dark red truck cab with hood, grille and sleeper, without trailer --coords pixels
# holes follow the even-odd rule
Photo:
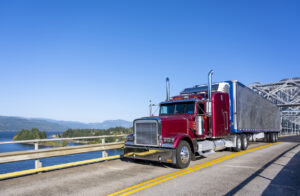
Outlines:
[[[199,142],[230,135],[228,92],[215,89],[209,105],[207,86],[195,88],[195,92],[184,89],[161,102],[159,116],[134,120],[134,132],[127,137],[124,156],[185,168],[199,154]]]

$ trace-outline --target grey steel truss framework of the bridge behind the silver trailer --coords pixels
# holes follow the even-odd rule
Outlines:
[[[300,133],[300,78],[249,85],[256,93],[275,103],[281,111],[281,134]]]

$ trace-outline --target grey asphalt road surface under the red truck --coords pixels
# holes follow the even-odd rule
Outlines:
[[[300,136],[280,140],[244,154],[217,152],[191,162],[187,170],[112,160],[7,179],[0,181],[0,195],[108,195],[120,190],[151,196],[300,195]],[[223,160],[228,156],[234,157]]]

